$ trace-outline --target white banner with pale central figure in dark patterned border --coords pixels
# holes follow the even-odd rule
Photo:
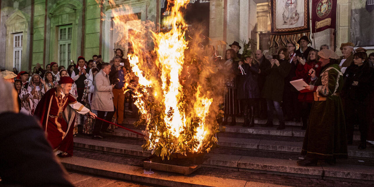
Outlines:
[[[309,0],[271,0],[272,34],[306,33],[309,28]]]

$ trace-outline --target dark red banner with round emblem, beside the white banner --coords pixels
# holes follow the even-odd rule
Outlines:
[[[318,33],[336,25],[337,0],[312,1],[312,33]]]

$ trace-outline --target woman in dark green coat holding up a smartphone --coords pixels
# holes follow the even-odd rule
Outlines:
[[[270,64],[271,66],[265,70],[268,76],[266,76],[265,85],[262,90],[262,95],[267,101],[267,122],[262,126],[273,126],[273,113],[276,110],[279,119],[279,127],[277,129],[280,130],[285,129],[285,119],[281,108],[284,79],[291,70],[287,49],[279,49],[278,55],[273,56]]]

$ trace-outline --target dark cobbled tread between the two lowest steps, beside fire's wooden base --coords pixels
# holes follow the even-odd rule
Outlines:
[[[142,167],[141,158],[126,157],[126,156],[115,156],[103,153],[95,153],[91,151],[82,151],[74,150],[74,156],[84,157],[88,159],[101,160],[105,162],[119,163],[123,165],[132,165]],[[157,171],[154,171],[157,172]],[[313,179],[305,177],[290,177],[284,175],[274,175],[274,174],[263,174],[255,172],[246,172],[246,171],[232,171],[227,169],[216,169],[216,168],[206,168],[201,167],[193,175],[204,175],[211,177],[220,177],[220,178],[229,178],[237,180],[245,180],[250,182],[258,183],[269,183],[269,184],[278,184],[285,186],[295,186],[295,187],[371,187],[373,185],[369,184],[360,184],[360,183],[349,183],[341,181],[332,181],[332,180],[322,180],[322,179]]]

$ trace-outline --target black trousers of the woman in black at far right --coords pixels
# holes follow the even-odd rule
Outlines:
[[[347,141],[353,141],[353,131],[355,124],[358,124],[361,134],[361,142],[366,143],[368,137],[368,111],[367,105],[354,99],[345,99],[345,117]]]

